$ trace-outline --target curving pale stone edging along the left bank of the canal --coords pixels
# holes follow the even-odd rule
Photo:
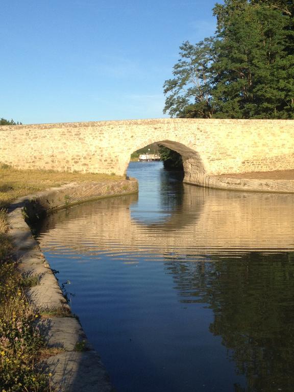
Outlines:
[[[113,392],[114,388],[100,356],[92,349],[80,323],[71,313],[26,220],[34,221],[43,214],[72,204],[137,191],[135,179],[70,183],[19,198],[9,207],[9,235],[19,269],[28,276],[38,276],[38,284],[27,291],[30,303],[43,314],[37,327],[48,348],[57,352],[39,366],[46,373],[52,373],[52,386],[60,391]]]

